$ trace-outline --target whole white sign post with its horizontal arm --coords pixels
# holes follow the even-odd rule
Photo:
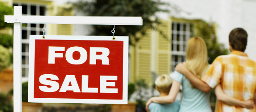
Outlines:
[[[142,25],[142,17],[86,17],[86,16],[22,16],[21,6],[14,6],[13,16],[4,21],[14,23],[13,28],[13,106],[21,112],[21,24],[95,24]]]

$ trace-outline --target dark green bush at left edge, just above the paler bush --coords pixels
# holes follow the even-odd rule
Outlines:
[[[0,44],[5,48],[13,48],[13,36],[0,35]]]

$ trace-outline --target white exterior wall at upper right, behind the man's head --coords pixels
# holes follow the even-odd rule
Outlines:
[[[175,17],[203,19],[218,24],[220,43],[229,48],[228,36],[234,28],[244,28],[248,33],[245,52],[256,61],[256,0],[162,0],[179,6],[183,12]],[[185,13],[186,12],[186,13]],[[188,14],[189,13],[189,14]],[[164,15],[160,15],[165,17]]]

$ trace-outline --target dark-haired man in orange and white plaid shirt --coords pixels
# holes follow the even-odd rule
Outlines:
[[[210,66],[208,72],[198,81],[187,68],[186,64],[179,64],[175,70],[184,74],[191,83],[203,92],[221,85],[227,96],[246,101],[256,98],[256,63],[249,59],[244,50],[247,45],[247,32],[243,28],[235,28],[229,35],[230,55],[218,56]],[[218,96],[217,96],[218,98]],[[256,112],[254,107],[235,106],[232,101],[218,98],[216,112]]]

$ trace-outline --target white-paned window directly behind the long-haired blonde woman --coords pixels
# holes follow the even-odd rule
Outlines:
[[[192,24],[173,22],[171,41],[171,71],[177,64],[186,61],[186,48],[189,38],[192,36]]]

